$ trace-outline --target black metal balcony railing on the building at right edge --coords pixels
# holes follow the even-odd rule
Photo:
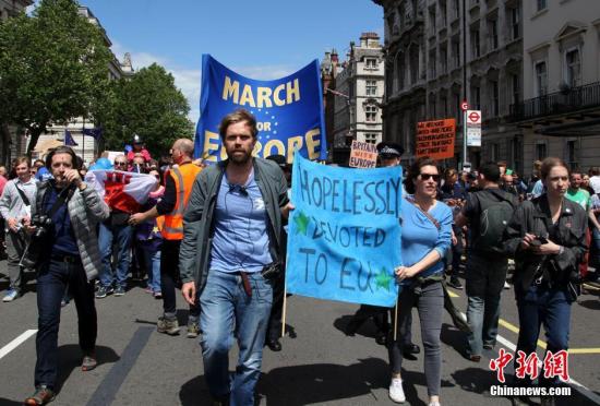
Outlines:
[[[566,88],[511,105],[511,121],[574,112],[596,106],[600,107],[600,82]]]

